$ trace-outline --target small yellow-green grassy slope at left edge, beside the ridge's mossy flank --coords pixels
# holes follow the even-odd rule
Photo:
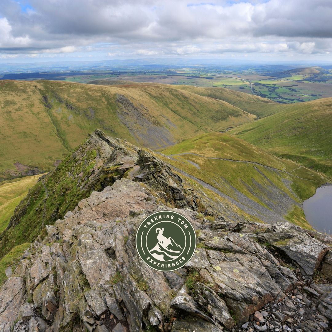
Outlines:
[[[0,232],[8,225],[15,207],[27,195],[41,175],[28,176],[22,179],[0,183]]]

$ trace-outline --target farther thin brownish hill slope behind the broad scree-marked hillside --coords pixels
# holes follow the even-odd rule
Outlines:
[[[135,84],[135,85],[154,85],[165,86],[166,84],[159,83],[137,83],[121,80],[94,80],[89,84],[98,85],[121,85],[121,84]],[[231,105],[234,105],[243,111],[254,114],[261,118],[269,114],[278,112],[280,104],[273,102],[270,99],[262,98],[248,93],[233,91],[225,88],[203,88],[192,85],[168,85],[174,89],[189,91],[200,96],[206,96],[218,100],[223,100]]]

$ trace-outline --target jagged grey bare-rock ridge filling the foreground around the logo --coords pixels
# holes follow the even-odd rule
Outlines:
[[[331,277],[330,237],[290,223],[224,220],[150,153],[99,131],[90,139],[109,154],[108,168],[118,166],[112,185],[31,244],[0,290],[1,331],[331,328],[332,285],[314,282]],[[167,273],[148,268],[135,248],[139,224],[165,209],[186,216],[198,238],[192,260]]]

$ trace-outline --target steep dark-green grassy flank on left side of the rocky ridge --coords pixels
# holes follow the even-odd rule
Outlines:
[[[0,257],[11,248],[33,240],[45,231],[44,220],[51,224],[77,203],[90,196],[94,188],[85,188],[93,167],[96,164],[97,151],[83,150],[79,146],[75,153],[68,156],[55,170],[46,174],[37,182],[18,206],[9,226],[1,233]],[[82,177],[77,176],[82,174]],[[42,222],[41,222],[42,221]]]

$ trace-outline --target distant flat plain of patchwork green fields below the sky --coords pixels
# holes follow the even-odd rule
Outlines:
[[[63,80],[90,83],[95,80],[153,82],[205,88],[227,88],[232,91],[269,98],[278,103],[298,103],[332,95],[332,69],[325,65],[299,67],[288,65],[135,65],[106,63],[87,65],[86,70],[73,67],[44,68],[45,72],[0,74],[1,79]]]

